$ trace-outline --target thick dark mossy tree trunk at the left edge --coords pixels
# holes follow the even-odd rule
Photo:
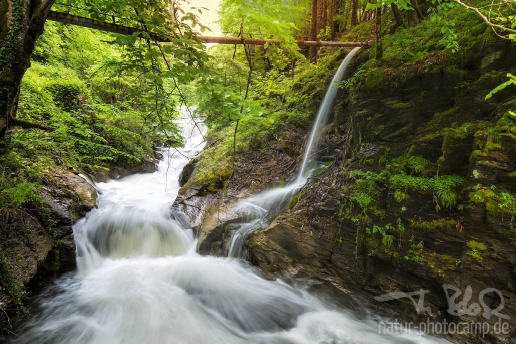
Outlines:
[[[2,0],[0,4],[0,142],[11,127],[40,127],[16,119],[16,112],[22,77],[54,1]]]

